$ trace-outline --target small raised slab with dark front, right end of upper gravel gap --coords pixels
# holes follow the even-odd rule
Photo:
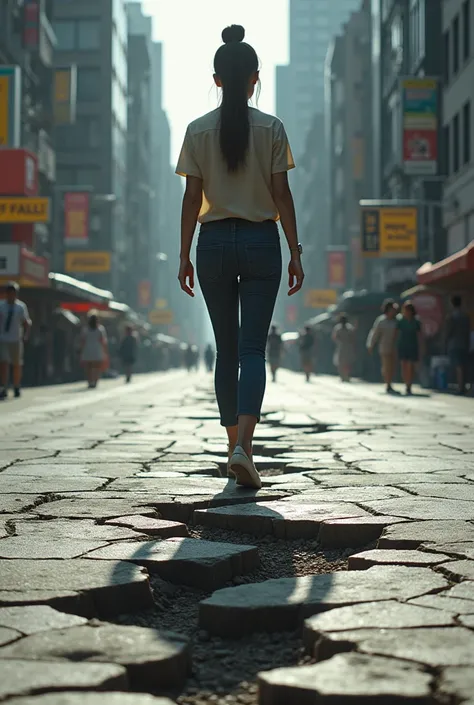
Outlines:
[[[357,548],[376,541],[386,526],[405,521],[399,517],[373,515],[327,519],[319,528],[318,539],[324,548]]]

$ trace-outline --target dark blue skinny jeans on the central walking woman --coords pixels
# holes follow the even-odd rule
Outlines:
[[[243,414],[260,420],[268,329],[281,281],[276,223],[240,218],[204,223],[197,274],[216,339],[221,424],[236,426]]]

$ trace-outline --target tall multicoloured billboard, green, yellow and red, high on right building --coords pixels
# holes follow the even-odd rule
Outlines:
[[[409,176],[438,171],[438,82],[434,78],[402,78],[403,168]]]

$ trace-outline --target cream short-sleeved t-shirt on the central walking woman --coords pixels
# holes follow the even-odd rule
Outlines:
[[[230,173],[219,144],[220,108],[192,122],[184,138],[176,173],[203,181],[200,223],[224,218],[254,222],[278,220],[272,197],[272,174],[295,166],[283,123],[274,115],[249,108],[247,162]]]

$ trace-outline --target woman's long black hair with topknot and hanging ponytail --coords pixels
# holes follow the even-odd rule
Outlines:
[[[252,74],[258,71],[255,49],[243,39],[245,30],[231,25],[222,32],[224,42],[214,57],[214,71],[222,83],[219,140],[222,156],[230,172],[245,165],[250,141],[248,89]]]

